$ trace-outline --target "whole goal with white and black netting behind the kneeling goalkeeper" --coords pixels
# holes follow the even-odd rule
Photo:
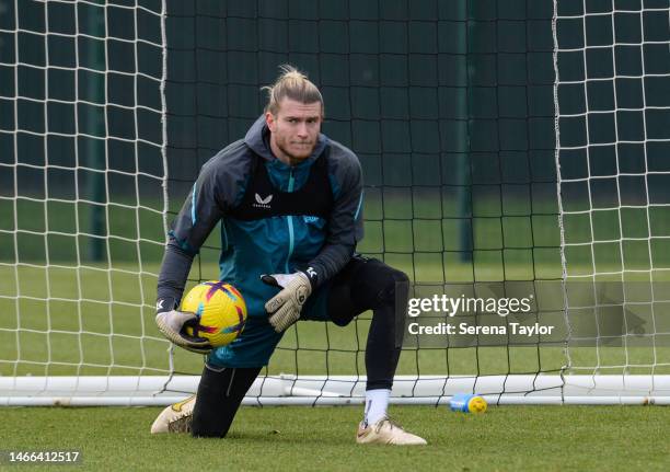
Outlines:
[[[358,250],[473,301],[407,318],[392,402],[668,402],[670,5],[501,4],[2,3],[0,404],[195,391],[203,358],[153,321],[168,226],[285,62],[361,161]],[[370,320],[297,323],[245,403],[362,402]]]

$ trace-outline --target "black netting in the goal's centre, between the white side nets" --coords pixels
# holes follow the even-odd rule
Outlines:
[[[171,169],[178,161],[180,179],[187,175],[171,181],[173,216],[199,166],[258,117],[259,89],[277,65],[290,62],[323,92],[324,131],[361,161],[359,251],[406,272],[417,287],[562,279],[551,2],[174,7],[169,31],[196,33],[169,43],[172,64],[192,65],[168,82]],[[195,99],[171,102],[171,92]],[[217,275],[218,238],[194,265],[194,281]],[[370,316],[345,329],[298,323],[266,373],[363,377]],[[558,371],[561,348],[542,355],[540,341],[414,344],[398,375],[412,387],[426,375]]]

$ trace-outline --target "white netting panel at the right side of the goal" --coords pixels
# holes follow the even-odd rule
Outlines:
[[[667,371],[667,1],[557,2],[567,354],[586,373]],[[570,297],[574,295],[574,297]]]

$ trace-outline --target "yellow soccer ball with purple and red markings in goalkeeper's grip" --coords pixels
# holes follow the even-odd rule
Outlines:
[[[204,281],[192,288],[182,301],[181,310],[197,316],[182,331],[208,339],[212,347],[232,343],[246,321],[242,295],[232,285],[218,280]]]

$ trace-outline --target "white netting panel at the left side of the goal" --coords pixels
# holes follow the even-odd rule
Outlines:
[[[161,2],[3,2],[2,375],[166,372]]]

